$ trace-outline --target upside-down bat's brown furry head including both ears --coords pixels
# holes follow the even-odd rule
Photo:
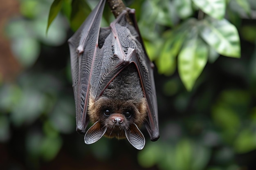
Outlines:
[[[118,139],[126,137],[135,148],[144,147],[145,139],[138,128],[147,115],[144,97],[137,101],[101,97],[94,102],[90,99],[88,115],[96,123],[86,132],[85,143],[92,144],[105,135]]]

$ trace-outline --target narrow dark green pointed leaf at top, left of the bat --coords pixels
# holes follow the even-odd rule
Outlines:
[[[58,12],[61,10],[62,2],[63,2],[63,0],[54,0],[54,2],[52,3],[50,12],[49,12],[46,33],[47,33],[52,21],[56,18],[56,16],[58,15]]]

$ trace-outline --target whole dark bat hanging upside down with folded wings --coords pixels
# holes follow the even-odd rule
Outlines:
[[[85,144],[104,135],[127,138],[141,150],[145,145],[139,130],[142,124],[151,141],[159,138],[154,65],[140,36],[135,10],[127,8],[109,27],[101,28],[104,6],[105,0],[100,0],[68,40],[76,131],[85,134]],[[86,131],[89,121],[94,124]]]

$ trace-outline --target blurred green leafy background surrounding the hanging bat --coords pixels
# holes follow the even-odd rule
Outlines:
[[[148,139],[141,151],[106,138],[86,146],[75,132],[68,28],[76,30],[97,2],[20,0],[21,16],[6,25],[24,68],[13,82],[0,75],[0,142],[22,160],[6,168],[41,169],[65,151],[111,165],[138,161],[137,169],[256,169],[256,1],[125,1],[136,9],[159,73],[160,139],[151,142],[142,129]],[[111,20],[106,7],[102,25]]]

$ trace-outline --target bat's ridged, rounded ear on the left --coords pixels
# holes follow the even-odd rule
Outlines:
[[[96,121],[95,124],[93,124],[85,134],[85,144],[93,144],[94,142],[98,141],[105,134],[106,130],[106,126],[105,128],[101,128],[99,121]]]

